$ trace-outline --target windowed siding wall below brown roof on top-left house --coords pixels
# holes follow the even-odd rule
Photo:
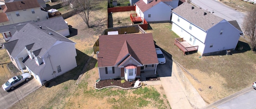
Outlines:
[[[20,10],[16,11],[19,12],[20,16],[16,16],[16,12],[7,12],[7,17],[10,21],[10,24],[14,23],[20,23],[24,21],[37,21],[37,17],[40,18],[40,20],[44,20],[48,18],[48,13],[42,11],[40,8],[33,8],[34,9],[34,14],[32,14],[31,9],[27,10]]]

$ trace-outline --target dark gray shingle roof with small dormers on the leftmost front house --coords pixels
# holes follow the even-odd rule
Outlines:
[[[42,57],[57,40],[74,43],[47,27],[40,29],[38,25],[28,23],[20,29],[20,31],[16,32],[10,41],[4,44],[4,48],[6,48],[14,58],[23,51],[25,47],[30,47],[33,53],[35,52],[34,54],[36,56]],[[41,50],[39,51],[39,49]]]

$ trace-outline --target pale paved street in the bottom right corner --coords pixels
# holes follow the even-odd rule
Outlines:
[[[202,109],[256,109],[256,90],[245,88]]]

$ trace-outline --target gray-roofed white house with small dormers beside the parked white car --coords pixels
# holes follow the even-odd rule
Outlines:
[[[48,27],[27,23],[3,48],[22,73],[28,70],[42,84],[77,66],[75,44]]]

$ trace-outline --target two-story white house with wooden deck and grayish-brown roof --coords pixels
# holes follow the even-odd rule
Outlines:
[[[243,35],[236,21],[226,21],[188,3],[172,10],[172,31],[182,38],[175,40],[175,45],[184,53],[198,47],[202,56],[234,50]]]

